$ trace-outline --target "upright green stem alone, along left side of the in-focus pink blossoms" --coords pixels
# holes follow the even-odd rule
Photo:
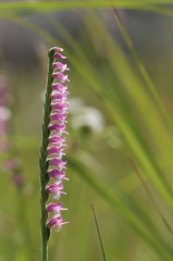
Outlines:
[[[46,185],[49,182],[49,176],[48,176],[48,162],[47,162],[47,147],[48,147],[48,138],[49,138],[49,122],[50,122],[50,111],[51,111],[51,100],[50,100],[50,95],[51,95],[51,85],[53,83],[53,54],[54,54],[54,49],[49,50],[49,65],[48,65],[48,77],[47,77],[47,90],[46,90],[46,100],[45,100],[45,112],[44,112],[44,123],[42,123],[42,144],[40,148],[40,159],[39,159],[39,169],[40,169],[40,185],[41,185],[41,190],[40,190],[40,210],[41,210],[41,250],[42,250],[42,256],[41,256],[41,261],[47,261],[48,260],[48,239],[50,235],[50,229],[47,227],[47,219],[48,214],[46,212],[46,202],[48,199],[48,195],[46,192]]]

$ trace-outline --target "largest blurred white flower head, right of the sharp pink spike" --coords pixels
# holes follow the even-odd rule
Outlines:
[[[72,117],[74,129],[87,127],[94,133],[101,133],[104,127],[104,120],[101,112],[94,107],[81,107]]]

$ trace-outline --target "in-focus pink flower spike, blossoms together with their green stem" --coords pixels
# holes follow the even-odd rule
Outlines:
[[[65,149],[67,145],[64,136],[69,134],[66,132],[66,123],[69,115],[67,109],[70,107],[67,98],[70,92],[66,85],[69,85],[70,82],[67,75],[67,71],[70,71],[70,69],[67,62],[64,59],[66,59],[66,57],[63,55],[62,48],[50,48],[48,52],[49,64],[47,89],[45,95],[46,99],[44,102],[44,123],[41,132],[42,141],[39,158],[39,176],[41,185],[41,236],[44,244],[49,239],[51,228],[54,228],[59,232],[63,225],[69,223],[63,222],[63,217],[61,216],[61,211],[65,211],[67,209],[64,208],[62,202],[59,201],[59,198],[61,196],[66,195],[63,184],[65,181],[69,181],[65,174],[67,163],[65,159]],[[3,125],[1,127],[0,121],[0,130],[2,129],[3,133],[5,133],[4,127],[5,126]],[[45,229],[48,231],[48,235],[45,235]],[[45,250],[42,257],[47,258],[47,252]]]

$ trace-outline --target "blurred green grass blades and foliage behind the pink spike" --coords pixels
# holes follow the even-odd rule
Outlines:
[[[162,90],[153,85],[159,85],[160,80],[165,84],[173,80],[172,75],[163,79],[157,67],[152,67],[152,75],[157,75],[152,80],[118,14],[114,13],[111,23],[119,22],[129,51],[121,47],[110,33],[100,12],[91,9],[108,8],[115,3],[118,8],[172,15],[171,8],[159,5],[172,2],[1,3],[1,18],[5,17],[34,32],[41,41],[35,44],[38,66],[29,72],[25,67],[23,71],[7,67],[5,72],[13,111],[11,139],[23,162],[25,182],[20,187],[15,186],[9,173],[1,173],[0,261],[40,260],[38,158],[41,97],[46,82],[47,50],[54,45],[63,45],[65,49],[71,67],[71,98],[79,98],[82,104],[78,105],[75,100],[76,111],[73,110],[69,116],[66,154],[71,181],[65,184],[67,196],[62,200],[69,208],[64,220],[70,224],[58,234],[52,232],[49,260],[102,260],[89,201],[97,212],[108,260],[172,260],[171,91],[168,91],[166,85]],[[54,30],[63,36],[63,44],[59,37],[25,17],[26,14],[72,8],[89,8],[82,9],[77,14],[81,23],[77,39],[53,14],[48,17]],[[172,55],[168,59],[172,66]],[[159,57],[156,58],[158,60]],[[148,63],[155,65],[155,61]],[[166,61],[164,63],[166,65]],[[75,128],[73,122],[77,121],[77,111],[84,107],[85,110],[97,108],[102,115],[104,121],[100,130],[92,126],[98,116],[96,121],[85,117],[83,124]]]

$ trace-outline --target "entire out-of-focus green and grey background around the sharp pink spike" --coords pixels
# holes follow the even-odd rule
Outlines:
[[[106,1],[0,1],[10,112],[0,113],[0,261],[40,260],[38,161],[52,46],[64,48],[71,69],[62,197],[70,224],[52,232],[49,260],[102,260],[90,202],[108,260],[172,260],[173,11],[123,2],[118,15]]]

